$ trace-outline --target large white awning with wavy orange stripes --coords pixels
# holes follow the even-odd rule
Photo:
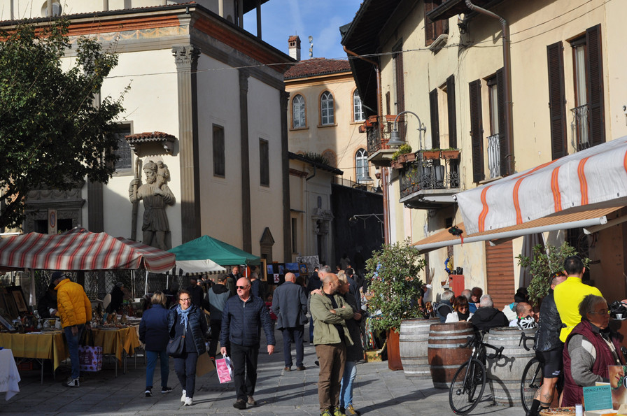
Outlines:
[[[456,195],[467,234],[627,205],[627,136]]]

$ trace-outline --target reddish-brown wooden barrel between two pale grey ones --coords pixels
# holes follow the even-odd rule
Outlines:
[[[470,322],[432,324],[429,330],[428,358],[433,387],[448,389],[453,376],[470,357],[470,348],[461,348],[474,335]]]

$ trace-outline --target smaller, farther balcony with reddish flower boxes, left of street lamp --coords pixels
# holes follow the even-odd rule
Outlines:
[[[364,123],[367,134],[368,162],[374,166],[390,166],[392,162],[392,155],[396,149],[391,149],[388,141],[390,141],[395,118],[396,115],[386,115],[379,120],[379,117],[372,115]],[[406,127],[407,122],[404,116],[401,116],[398,120],[398,129],[402,132],[406,130]]]

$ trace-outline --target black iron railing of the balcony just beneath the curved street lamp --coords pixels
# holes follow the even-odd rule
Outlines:
[[[420,152],[399,174],[401,198],[428,189],[456,189],[459,183],[459,159],[423,159]]]

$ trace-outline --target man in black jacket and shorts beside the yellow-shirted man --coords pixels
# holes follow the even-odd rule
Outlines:
[[[542,386],[535,392],[527,416],[537,416],[540,410],[551,407],[555,385],[562,373],[562,352],[564,350],[564,343],[560,340],[562,320],[557,306],[555,306],[553,289],[564,280],[566,280],[566,276],[563,273],[556,273],[551,277],[549,294],[544,296],[542,306],[540,306],[540,321],[535,333],[533,349],[535,356],[542,363],[544,379]]]

